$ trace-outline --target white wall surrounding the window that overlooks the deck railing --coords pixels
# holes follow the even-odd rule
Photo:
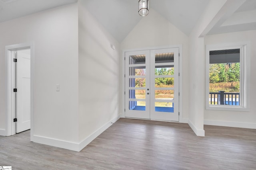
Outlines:
[[[256,129],[256,30],[241,31],[234,33],[224,33],[216,35],[207,35],[205,45],[225,44],[235,42],[249,42],[248,52],[250,54],[251,71],[250,71],[250,111],[218,111],[204,110],[204,124],[222,125],[233,127],[247,127]]]

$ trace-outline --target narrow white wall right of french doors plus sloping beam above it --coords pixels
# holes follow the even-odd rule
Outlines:
[[[223,0],[210,0],[189,36],[189,120],[188,124],[198,136],[204,136],[205,53],[201,34],[218,20],[216,15]]]

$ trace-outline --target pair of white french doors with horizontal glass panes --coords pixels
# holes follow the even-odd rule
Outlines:
[[[125,117],[179,121],[179,48],[125,53]]]

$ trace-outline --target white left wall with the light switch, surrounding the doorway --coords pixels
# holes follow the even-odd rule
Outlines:
[[[77,4],[0,23],[0,37],[0,129],[5,129],[7,111],[5,46],[33,42],[35,139],[77,143]]]

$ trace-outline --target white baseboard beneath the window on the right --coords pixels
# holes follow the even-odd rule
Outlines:
[[[204,120],[204,125],[241,127],[241,128],[256,129],[256,123],[233,122],[233,121]]]

